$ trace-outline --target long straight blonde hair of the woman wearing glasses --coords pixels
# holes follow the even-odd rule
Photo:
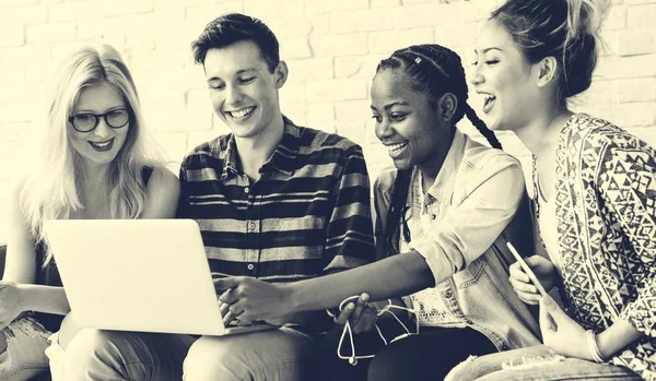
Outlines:
[[[125,143],[110,163],[107,178],[112,218],[137,218],[145,203],[144,166],[157,167],[156,151],[148,151],[139,96],[130,72],[116,49],[108,45],[84,47],[69,56],[49,83],[40,117],[40,146],[35,166],[20,189],[19,202],[35,242],[46,242],[43,222],[67,219],[83,210],[80,200],[85,174],[71,145],[68,119],[83,88],[106,84],[120,94],[130,112]],[[149,146],[152,144],[149,142]],[[51,258],[47,254],[44,266]]]

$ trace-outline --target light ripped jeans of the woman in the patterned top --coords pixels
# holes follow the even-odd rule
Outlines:
[[[544,345],[477,357],[454,368],[448,381],[642,380],[631,369],[554,354]]]

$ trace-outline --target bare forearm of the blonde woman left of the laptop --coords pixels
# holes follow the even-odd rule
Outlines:
[[[19,289],[23,311],[67,314],[71,310],[63,287],[22,284]]]

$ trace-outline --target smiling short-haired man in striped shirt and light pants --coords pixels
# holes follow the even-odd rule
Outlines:
[[[179,217],[200,225],[215,277],[291,282],[374,260],[362,148],[285,118],[288,68],[259,20],[227,14],[192,44],[214,111],[232,130],[196,147],[180,168]],[[226,290],[233,293],[233,290]],[[237,296],[238,297],[238,296]],[[225,320],[241,311],[222,306]],[[289,315],[273,331],[201,337],[187,380],[301,380],[324,311]],[[326,325],[328,328],[328,325]]]

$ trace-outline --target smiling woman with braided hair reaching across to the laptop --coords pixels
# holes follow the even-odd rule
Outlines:
[[[411,46],[378,64],[371,109],[396,168],[374,189],[377,262],[286,285],[218,281],[233,289],[220,299],[234,302],[241,321],[331,308],[355,295],[342,302],[336,323],[344,328],[325,337],[313,379],[440,380],[470,355],[538,343],[537,323],[508,283],[505,249],[514,236],[519,251],[532,249],[530,238],[522,241],[532,233],[520,209],[524,174],[467,94],[460,58],[445,47]],[[465,116],[493,147],[456,128]],[[414,315],[380,314],[388,301],[370,302],[403,296]],[[397,318],[418,332],[395,341],[403,332]]]

